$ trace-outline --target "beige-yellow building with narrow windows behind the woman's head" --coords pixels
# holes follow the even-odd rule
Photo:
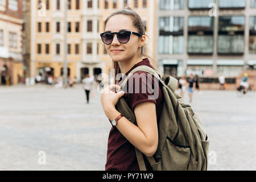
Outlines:
[[[60,77],[63,73],[64,61],[64,8],[65,1],[42,0],[30,1],[27,16],[30,17],[26,27],[26,35],[30,47],[26,55],[30,63],[30,76],[42,75]],[[106,53],[101,42],[100,33],[104,31],[104,21],[108,15],[121,9],[125,3],[129,4],[141,15],[146,26],[148,55],[154,57],[154,7],[155,1],[144,0],[69,0],[68,32],[67,32],[67,60],[69,78],[76,77],[80,81],[86,73],[89,76],[100,73],[109,74],[112,60]],[[27,69],[28,72],[28,69]]]

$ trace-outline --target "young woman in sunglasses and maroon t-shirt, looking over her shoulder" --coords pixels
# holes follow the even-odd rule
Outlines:
[[[127,76],[139,65],[154,68],[147,57],[143,59],[143,46],[146,41],[144,34],[141,17],[129,7],[116,11],[106,19],[105,32],[101,34],[101,38],[112,58],[115,76],[118,73]],[[154,90],[159,93],[155,99],[148,99],[152,93],[152,90],[148,90],[147,87],[149,74],[142,71],[135,73],[127,82],[129,89],[126,93],[113,91],[119,89],[122,80],[116,81],[115,84],[109,85],[101,92],[101,104],[106,117],[109,121],[118,120],[109,133],[106,170],[139,170],[134,147],[146,156],[154,155],[158,147],[158,118],[163,107],[162,90],[158,81],[155,81],[152,76],[152,83],[155,84]],[[139,84],[135,84],[138,80]],[[130,90],[131,86],[133,90]],[[134,92],[138,87],[140,92]],[[142,88],[147,88],[147,92],[141,92]],[[115,109],[115,104],[121,97],[134,111],[138,126]],[[146,168],[151,169],[148,161],[144,161]]]

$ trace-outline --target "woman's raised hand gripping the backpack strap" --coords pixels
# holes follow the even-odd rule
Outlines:
[[[119,98],[121,98],[125,92],[118,92],[120,86],[118,85],[109,85],[101,92],[101,105],[103,107],[106,117],[109,118],[110,113],[115,110],[115,104],[117,104]]]

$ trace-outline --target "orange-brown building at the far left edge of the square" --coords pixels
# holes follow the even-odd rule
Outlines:
[[[0,84],[18,84],[23,76],[22,0],[0,0]]]

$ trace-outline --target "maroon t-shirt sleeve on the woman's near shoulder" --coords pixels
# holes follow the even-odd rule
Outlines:
[[[159,82],[149,73],[135,72],[127,84],[127,100],[131,109],[142,102],[154,102],[159,96]]]

